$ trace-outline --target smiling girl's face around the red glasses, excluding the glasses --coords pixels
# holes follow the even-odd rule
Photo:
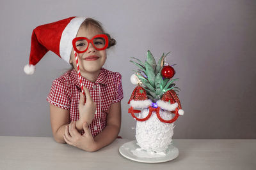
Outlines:
[[[89,27],[80,27],[77,32],[76,37],[86,37],[92,39],[93,36],[102,34],[99,29],[95,29],[93,26]],[[93,45],[90,43],[88,49],[84,53],[77,53],[77,59],[79,64],[79,69],[81,74],[83,73],[97,73],[100,71],[100,68],[106,62],[106,50],[96,50]],[[72,48],[70,63],[72,62],[74,68],[77,71],[76,59],[74,55],[74,48]]]

